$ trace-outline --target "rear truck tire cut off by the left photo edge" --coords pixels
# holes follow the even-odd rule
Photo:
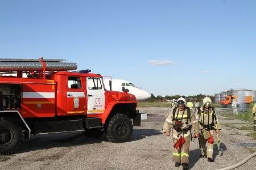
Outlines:
[[[21,143],[22,131],[9,122],[0,118],[0,155],[14,154]]]

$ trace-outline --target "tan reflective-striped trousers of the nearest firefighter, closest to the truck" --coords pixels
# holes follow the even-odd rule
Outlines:
[[[172,138],[172,139],[175,144],[177,142],[177,139],[175,138]],[[173,148],[174,152],[172,153],[172,160],[177,163],[188,164],[190,135],[188,137],[184,137],[184,139],[185,139],[185,143],[179,150],[176,150],[175,148]]]

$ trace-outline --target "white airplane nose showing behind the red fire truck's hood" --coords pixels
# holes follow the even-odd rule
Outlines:
[[[147,91],[144,91],[141,87],[135,86],[133,83],[122,80],[122,79],[112,79],[112,91],[122,91],[122,88],[129,90],[130,94],[133,94],[138,101],[143,101],[150,99],[151,94]],[[106,90],[110,90],[109,82],[104,80]]]

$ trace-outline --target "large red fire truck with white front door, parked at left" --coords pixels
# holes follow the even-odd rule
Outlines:
[[[146,117],[136,97],[107,91],[103,76],[76,69],[65,59],[0,59],[0,155],[14,154],[31,134],[82,131],[129,141]]]

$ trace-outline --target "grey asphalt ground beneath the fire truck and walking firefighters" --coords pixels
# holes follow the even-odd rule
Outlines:
[[[130,142],[106,142],[104,136],[89,139],[81,132],[36,135],[31,141],[24,141],[16,154],[0,156],[0,169],[182,169],[174,167],[171,160],[174,143],[162,131],[170,108],[139,109],[147,112],[148,117],[141,127],[134,126]],[[190,145],[190,169],[228,167],[256,151],[256,140],[247,133],[232,130],[248,122],[225,119],[222,115],[225,109],[216,108],[216,112],[223,126],[220,151],[216,143],[213,147],[215,162],[199,158],[199,143],[195,140]],[[255,165],[254,157],[236,169],[254,169]]]

